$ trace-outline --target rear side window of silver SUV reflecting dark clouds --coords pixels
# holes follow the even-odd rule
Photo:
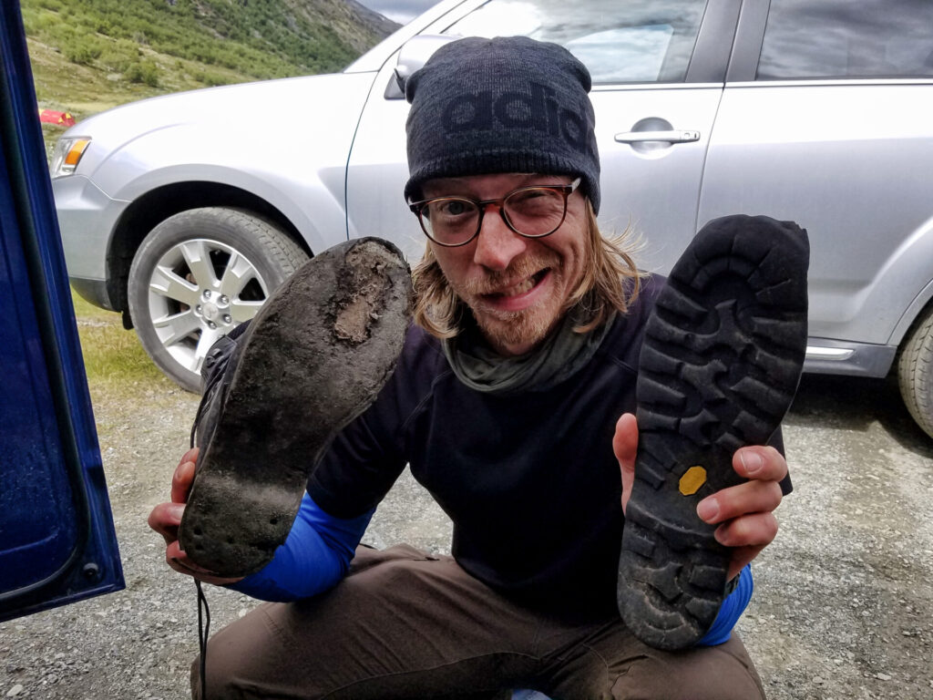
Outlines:
[[[929,0],[771,0],[757,78],[933,77]]]

